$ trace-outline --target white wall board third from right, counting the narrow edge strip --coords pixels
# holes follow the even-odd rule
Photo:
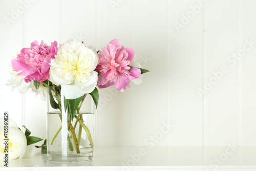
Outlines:
[[[199,7],[197,13],[191,6]],[[170,105],[169,121],[174,125],[169,145],[200,146],[203,145],[203,98],[197,89],[203,81],[203,9],[198,1],[191,0],[171,1],[169,10],[170,101],[167,105]]]

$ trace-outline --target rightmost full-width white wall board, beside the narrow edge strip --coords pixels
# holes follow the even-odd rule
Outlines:
[[[238,144],[238,65],[227,62],[228,57],[238,51],[238,1],[207,1],[205,8],[204,81],[212,84],[206,94],[205,145]]]

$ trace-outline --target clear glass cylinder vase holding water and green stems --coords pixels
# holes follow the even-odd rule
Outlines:
[[[73,120],[71,113],[67,112],[67,127],[62,129],[62,120],[65,119],[62,118],[61,111],[65,107],[61,105],[61,88],[47,89],[47,159],[58,162],[91,160],[95,110],[92,97],[87,94],[82,96]]]

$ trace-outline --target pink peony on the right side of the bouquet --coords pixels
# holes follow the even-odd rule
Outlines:
[[[129,66],[134,58],[134,50],[121,46],[119,39],[110,41],[98,55],[100,61],[95,71],[102,75],[102,78],[98,77],[100,89],[115,84],[116,90],[125,91],[126,87],[131,87],[131,79],[140,77],[140,69]]]

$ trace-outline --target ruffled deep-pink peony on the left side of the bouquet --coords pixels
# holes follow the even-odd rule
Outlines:
[[[49,78],[51,59],[57,54],[57,41],[52,42],[51,47],[41,41],[38,45],[37,40],[31,43],[30,48],[23,48],[16,59],[12,60],[12,68],[19,72],[19,76],[25,76],[24,80],[39,82]]]

